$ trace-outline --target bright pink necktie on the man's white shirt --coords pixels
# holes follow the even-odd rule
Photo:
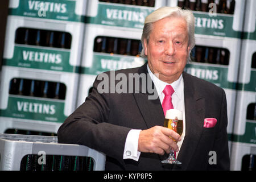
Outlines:
[[[164,99],[162,102],[162,107],[164,111],[164,115],[166,115],[166,111],[169,109],[174,109],[174,105],[172,105],[172,94],[174,93],[174,89],[171,85],[166,85],[163,90]]]

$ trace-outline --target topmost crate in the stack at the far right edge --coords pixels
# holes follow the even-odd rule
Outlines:
[[[243,39],[249,39],[252,42],[256,42],[255,8],[256,8],[256,1],[246,0],[245,20],[243,23]]]

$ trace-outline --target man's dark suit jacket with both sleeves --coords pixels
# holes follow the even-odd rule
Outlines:
[[[129,73],[147,73],[147,64],[139,68],[115,71],[115,75],[118,73],[125,74],[127,78]],[[110,76],[110,72],[106,74]],[[177,158],[181,165],[162,164],[160,161],[163,156],[143,152],[138,162],[123,160],[128,132],[131,129],[144,130],[155,125],[163,126],[163,109],[159,98],[148,100],[149,93],[144,93],[143,89],[139,89],[139,93],[100,94],[97,86],[101,80],[97,78],[92,93],[84,104],[60,126],[57,133],[59,143],[82,144],[104,152],[106,170],[228,170],[225,92],[218,86],[185,72],[183,79],[186,131]],[[204,128],[204,118],[216,118],[217,123],[212,128]],[[209,164],[212,156],[209,155],[210,151],[216,152],[217,164]]]

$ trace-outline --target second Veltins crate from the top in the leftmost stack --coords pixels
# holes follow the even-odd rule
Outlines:
[[[75,73],[81,61],[83,37],[84,23],[40,22],[9,15],[3,65]]]

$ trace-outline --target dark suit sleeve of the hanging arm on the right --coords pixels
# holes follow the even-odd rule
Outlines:
[[[213,150],[216,151],[217,164],[209,165],[212,170],[229,170],[229,148],[228,148],[228,134],[226,128],[228,126],[227,108],[226,108],[226,94],[222,90],[222,105],[220,110],[220,125],[218,134],[214,140]]]

